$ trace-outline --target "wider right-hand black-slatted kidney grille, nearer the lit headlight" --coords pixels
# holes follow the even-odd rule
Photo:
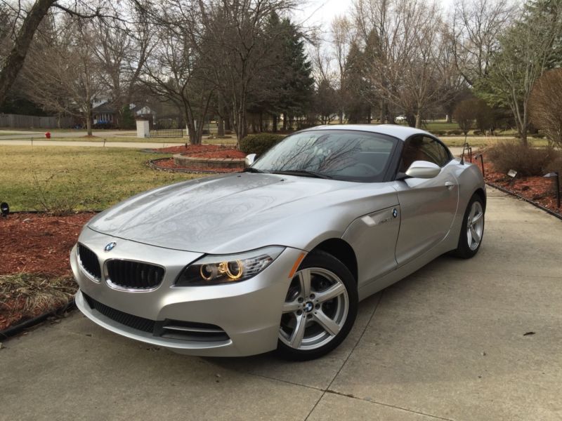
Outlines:
[[[134,260],[108,260],[107,283],[113,288],[125,290],[153,290],[164,279],[164,268]]]

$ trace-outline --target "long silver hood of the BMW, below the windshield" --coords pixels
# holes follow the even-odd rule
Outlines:
[[[100,213],[87,226],[116,238],[198,253],[235,253],[275,244],[304,248],[318,232],[339,236],[355,214],[372,211],[362,213],[362,186],[236,173],[138,194]],[[396,191],[381,185],[379,189],[386,192],[381,195],[386,199],[378,208],[398,203]],[[354,208],[353,202],[358,206]]]

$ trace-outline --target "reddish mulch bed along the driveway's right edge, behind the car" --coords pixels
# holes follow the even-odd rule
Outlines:
[[[481,168],[480,161],[474,161],[478,168]],[[502,187],[509,192],[523,196],[529,201],[544,206],[558,215],[562,215],[562,208],[557,208],[556,192],[554,181],[551,178],[544,178],[540,175],[532,177],[521,177],[513,180],[507,174],[499,173],[493,164],[486,161],[484,154],[484,171],[486,182]]]

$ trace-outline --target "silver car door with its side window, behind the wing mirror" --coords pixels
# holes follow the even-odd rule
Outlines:
[[[415,135],[405,141],[399,173],[413,161],[429,161],[441,167],[431,179],[396,180],[400,203],[400,230],[396,242],[398,266],[430,250],[449,233],[457,213],[459,186],[453,175],[452,155],[439,140]]]

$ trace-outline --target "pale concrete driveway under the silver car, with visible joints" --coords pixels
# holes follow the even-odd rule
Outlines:
[[[561,420],[562,221],[488,194],[476,258],[365,300],[323,359],[180,356],[74,312],[4,341],[0,418]]]

